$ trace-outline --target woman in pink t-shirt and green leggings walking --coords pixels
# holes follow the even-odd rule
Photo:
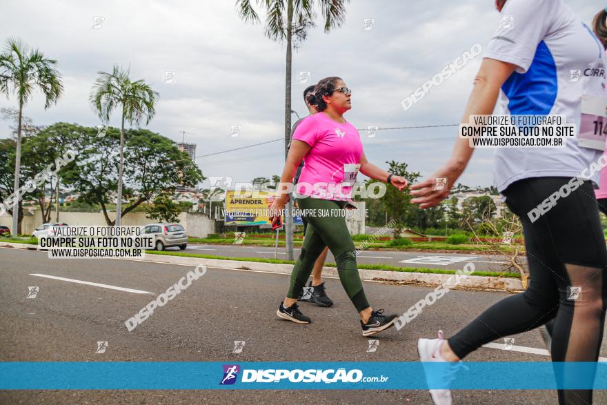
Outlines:
[[[344,112],[352,108],[352,92],[339,77],[319,81],[315,88],[317,110],[301,120],[281,176],[279,197],[270,210],[283,210],[290,195],[295,170],[304,159],[295,195],[302,217],[308,221],[304,246],[293,266],[286,298],[276,314],[297,324],[309,324],[310,318],[297,306],[297,297],[304,292],[317,257],[325,246],[331,250],[337,263],[337,273],[352,304],[361,317],[364,336],[375,335],[392,326],[397,315],[384,315],[384,310],[373,310],[367,302],[356,264],[357,251],[346,226],[344,207],[352,195],[358,172],[372,179],[386,181],[403,190],[404,177],[371,164],[365,157],[359,132],[344,119]],[[278,217],[272,217],[275,224]],[[304,292],[304,296],[306,293]]]

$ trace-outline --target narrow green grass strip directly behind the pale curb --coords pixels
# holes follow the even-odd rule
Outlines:
[[[282,260],[282,259],[261,259],[259,257],[227,257],[227,256],[215,256],[215,255],[200,255],[198,253],[186,253],[186,252],[168,252],[158,250],[146,250],[146,253],[152,255],[164,255],[164,256],[181,256],[181,257],[199,257],[201,259],[216,259],[216,260],[237,260],[237,261],[255,261],[257,263],[272,263],[272,264],[295,264],[295,261]],[[336,267],[335,263],[325,264],[327,267]],[[366,270],[387,270],[387,271],[400,271],[404,273],[429,273],[429,274],[455,274],[456,270],[443,270],[441,268],[414,268],[414,267],[397,267],[388,266],[386,264],[359,264],[358,268],[364,268]],[[518,273],[499,273],[495,271],[475,271],[473,275],[486,276],[486,277],[509,277],[509,278],[520,278]]]

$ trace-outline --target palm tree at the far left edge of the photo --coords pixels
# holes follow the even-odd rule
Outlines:
[[[21,168],[21,129],[23,127],[23,106],[26,105],[32,92],[40,90],[46,102],[46,110],[63,92],[61,75],[55,68],[57,61],[44,57],[37,49],[30,50],[21,39],[12,37],[6,41],[5,50],[0,54],[0,93],[10,90],[17,95],[19,116],[17,118],[17,151],[14,158],[14,203],[12,206],[12,232],[19,235],[19,171]]]

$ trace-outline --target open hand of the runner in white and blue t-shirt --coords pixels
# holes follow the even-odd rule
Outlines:
[[[437,206],[441,201],[449,197],[449,192],[455,181],[466,168],[463,164],[448,161],[434,172],[429,179],[420,181],[410,186],[411,202],[419,204],[419,208],[430,208]]]

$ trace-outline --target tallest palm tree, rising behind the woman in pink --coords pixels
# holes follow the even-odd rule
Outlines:
[[[266,14],[266,37],[272,41],[287,43],[285,75],[285,159],[291,135],[291,65],[292,48],[299,46],[306,39],[308,28],[314,27],[315,7],[319,7],[324,19],[324,31],[341,27],[346,17],[345,3],[350,0],[257,0],[257,6]],[[250,0],[237,0],[236,7],[245,22],[259,23],[259,14],[255,12]],[[292,209],[289,201],[287,210]],[[285,218],[287,259],[293,259],[293,219]]]

